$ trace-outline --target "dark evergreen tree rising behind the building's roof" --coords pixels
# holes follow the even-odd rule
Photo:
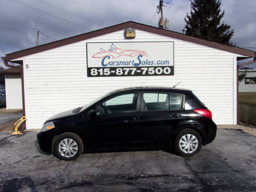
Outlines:
[[[190,0],[191,11],[185,17],[187,35],[203,38],[209,41],[232,45],[230,39],[234,30],[221,22],[224,11],[221,12],[221,0]]]

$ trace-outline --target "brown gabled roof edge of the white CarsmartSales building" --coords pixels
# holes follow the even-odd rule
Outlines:
[[[57,48],[57,47],[60,47],[60,46],[64,46],[64,45],[84,41],[86,39],[98,37],[98,36],[101,36],[101,35],[114,33],[115,31],[124,30],[124,29],[127,29],[127,28],[143,30],[143,31],[153,33],[153,34],[157,34],[157,35],[163,35],[163,36],[166,36],[166,37],[180,39],[182,41],[196,43],[196,44],[199,44],[199,45],[212,47],[214,49],[219,49],[219,50],[228,51],[228,52],[231,52],[231,53],[236,53],[236,54],[239,54],[239,55],[243,55],[244,57],[253,57],[253,58],[255,57],[255,52],[254,51],[238,48],[238,47],[235,47],[235,46],[215,43],[215,42],[207,41],[207,40],[204,40],[204,39],[201,39],[201,38],[196,38],[196,37],[192,37],[192,36],[189,36],[189,35],[184,35],[184,34],[181,34],[181,33],[177,33],[177,32],[174,32],[174,31],[170,31],[170,30],[166,30],[166,29],[160,29],[160,28],[153,27],[153,26],[148,26],[148,25],[143,25],[141,23],[137,23],[137,22],[133,22],[133,21],[128,21],[128,22],[120,23],[118,25],[114,25],[114,26],[103,28],[103,29],[98,29],[98,30],[95,30],[95,31],[91,31],[89,33],[84,33],[84,34],[81,34],[81,35],[61,39],[59,41],[47,43],[47,44],[44,44],[44,45],[39,45],[39,46],[36,46],[36,47],[31,47],[29,49],[9,53],[9,54],[6,54],[6,57],[3,57],[2,59],[6,60],[6,61],[11,61],[11,60],[15,60],[15,59],[25,57],[25,56],[28,56],[28,55],[31,55],[31,54],[51,50],[51,49],[54,49],[54,48]]]

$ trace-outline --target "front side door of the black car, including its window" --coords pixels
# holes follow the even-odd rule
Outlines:
[[[90,146],[129,146],[138,139],[139,92],[114,95],[95,106],[89,121]]]

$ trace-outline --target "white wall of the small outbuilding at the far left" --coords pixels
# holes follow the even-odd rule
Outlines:
[[[5,75],[6,109],[22,109],[21,75]]]

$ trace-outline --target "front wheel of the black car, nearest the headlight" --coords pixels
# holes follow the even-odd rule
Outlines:
[[[75,133],[63,133],[53,142],[53,154],[65,161],[77,159],[83,153],[83,150],[83,141]]]

